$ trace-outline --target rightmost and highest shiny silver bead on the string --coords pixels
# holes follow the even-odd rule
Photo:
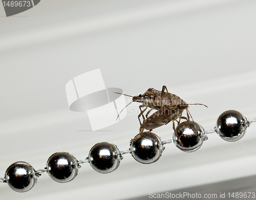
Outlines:
[[[249,121],[244,115],[236,110],[228,110],[222,113],[216,123],[215,131],[226,141],[237,141],[241,139]]]

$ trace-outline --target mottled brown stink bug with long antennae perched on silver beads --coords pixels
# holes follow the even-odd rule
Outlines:
[[[130,96],[127,94],[124,94],[124,95]],[[188,106],[191,104],[187,104],[179,96],[169,93],[165,85],[162,87],[162,91],[156,90],[154,88],[149,88],[144,94],[139,94],[138,96],[131,96],[131,97],[133,97],[132,102],[142,103],[142,105],[139,106],[140,114],[138,115],[139,122],[140,122],[140,129],[139,129],[140,134],[143,133],[144,129],[152,131],[153,129],[161,127],[164,124],[169,123],[170,121],[173,121],[173,129],[176,134],[174,121],[177,121],[178,124],[180,123],[181,119],[186,119],[187,121],[189,121],[190,113],[188,111]],[[130,105],[131,103],[129,103],[128,105]],[[192,105],[203,105],[203,104],[192,104]],[[147,107],[151,109],[144,116],[143,113],[146,111]],[[144,109],[142,110],[142,108]],[[147,117],[148,114],[150,114],[150,112],[154,109],[157,111],[153,113],[150,117]],[[184,110],[186,110],[187,117],[182,116],[182,113]],[[143,122],[140,121],[141,116],[143,118]]]

